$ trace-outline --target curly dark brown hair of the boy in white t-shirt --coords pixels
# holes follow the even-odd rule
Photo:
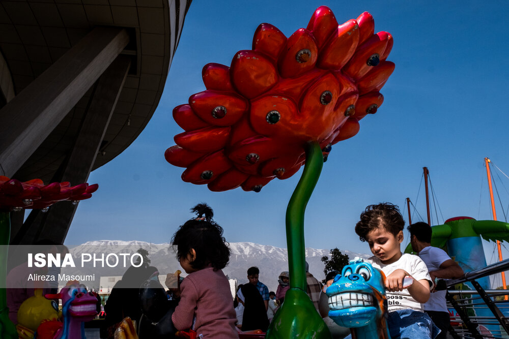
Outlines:
[[[378,205],[369,205],[360,213],[360,220],[355,225],[355,233],[360,241],[366,241],[366,236],[371,231],[383,227],[394,236],[403,231],[405,221],[400,208],[390,202],[382,202]]]

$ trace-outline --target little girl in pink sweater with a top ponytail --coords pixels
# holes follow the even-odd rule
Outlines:
[[[172,316],[179,331],[194,330],[199,338],[238,338],[230,284],[222,272],[230,260],[222,228],[212,221],[206,204],[191,209],[197,218],[187,221],[172,238],[182,268],[180,302]]]

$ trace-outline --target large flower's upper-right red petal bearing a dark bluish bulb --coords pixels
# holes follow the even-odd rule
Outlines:
[[[387,40],[389,36],[387,32],[379,32],[359,46],[352,59],[343,69],[343,72],[351,78],[358,80],[362,78],[367,72],[376,69],[378,66],[370,66],[367,64],[370,56],[378,54],[382,55],[385,47],[387,46]]]

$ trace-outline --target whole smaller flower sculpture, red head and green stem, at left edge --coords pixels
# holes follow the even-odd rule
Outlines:
[[[0,175],[0,287],[6,286],[10,212],[31,208],[47,211],[55,202],[70,200],[77,203],[88,199],[97,189],[97,184],[81,183],[71,187],[69,182],[52,182],[45,185],[40,179],[20,182]],[[0,288],[0,337],[18,338],[15,324],[9,319],[5,288]]]

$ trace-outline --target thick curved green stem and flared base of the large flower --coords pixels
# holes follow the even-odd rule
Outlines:
[[[285,302],[274,315],[266,338],[330,338],[322,317],[306,293],[304,212],[323,167],[323,155],[316,142],[306,145],[306,164],[302,176],[288,203],[286,231],[290,289]]]

